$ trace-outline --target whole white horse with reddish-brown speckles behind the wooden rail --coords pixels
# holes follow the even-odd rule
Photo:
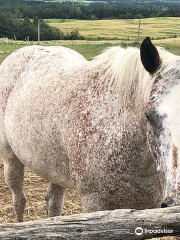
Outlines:
[[[48,216],[67,188],[85,212],[180,203],[180,57],[114,46],[91,61],[28,46],[0,66],[0,153],[17,221],[24,167],[48,180]],[[38,195],[38,192],[34,194]]]

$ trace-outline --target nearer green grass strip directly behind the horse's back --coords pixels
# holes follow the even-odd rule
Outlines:
[[[130,43],[130,42],[129,42]],[[156,45],[165,47],[168,51],[180,55],[180,38],[154,40]],[[37,42],[26,43],[23,41],[0,40],[0,63],[15,50],[28,45],[37,44]],[[64,46],[81,53],[87,60],[92,60],[99,55],[104,49],[121,45],[121,41],[44,41],[41,42],[44,46]]]

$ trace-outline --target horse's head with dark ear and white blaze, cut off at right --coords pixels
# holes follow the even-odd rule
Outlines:
[[[156,159],[164,196],[162,207],[180,204],[180,58],[166,64],[146,38],[141,60],[151,74],[153,87],[145,108],[148,143]]]

